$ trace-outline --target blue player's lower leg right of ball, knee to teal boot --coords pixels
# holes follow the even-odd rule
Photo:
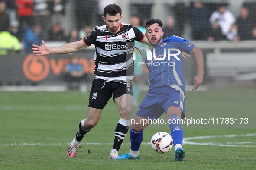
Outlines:
[[[183,161],[185,156],[185,151],[182,149],[183,130],[180,123],[181,115],[182,110],[179,107],[170,106],[167,110],[167,119],[169,119],[168,123],[175,149],[175,161]]]

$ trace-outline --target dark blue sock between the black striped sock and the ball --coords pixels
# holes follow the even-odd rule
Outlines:
[[[131,139],[131,150],[138,151],[143,139],[143,131],[138,132],[131,128],[130,139]]]

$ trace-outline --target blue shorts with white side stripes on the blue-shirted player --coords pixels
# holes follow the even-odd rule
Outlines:
[[[137,115],[149,119],[158,119],[170,106],[181,108],[181,119],[185,117],[185,87],[165,85],[150,89],[139,105]]]

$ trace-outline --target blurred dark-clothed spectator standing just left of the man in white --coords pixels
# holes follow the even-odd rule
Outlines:
[[[210,11],[201,2],[194,2],[188,13],[188,22],[192,28],[194,40],[206,40],[210,29]]]

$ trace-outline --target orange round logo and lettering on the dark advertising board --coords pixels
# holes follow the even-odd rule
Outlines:
[[[23,61],[23,72],[29,80],[39,82],[49,75],[51,69],[56,76],[58,76],[61,72],[65,73],[65,66],[68,63],[68,59],[59,58],[56,61],[53,58],[48,59],[45,56],[29,54]],[[83,65],[85,74],[94,74],[94,58],[89,61],[85,58],[80,58],[79,63]]]

